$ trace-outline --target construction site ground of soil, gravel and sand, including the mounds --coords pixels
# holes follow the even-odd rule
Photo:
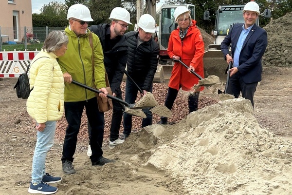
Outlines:
[[[133,117],[133,133],[114,149],[108,147],[111,113],[107,112],[103,150],[115,163],[103,167],[92,167],[86,155],[84,116],[73,175],[62,172],[66,129],[62,117],[46,160],[46,172],[62,177],[52,184],[58,187],[56,194],[291,195],[291,18],[289,13],[265,27],[269,44],[254,110],[243,98],[220,101],[217,91],[223,91],[224,85],[217,84],[201,92],[199,110],[188,115],[188,94],[180,91],[169,118],[171,125],[156,124],[159,116],[153,114],[153,125],[141,130],[142,119]],[[16,96],[16,81],[0,80],[1,195],[28,194],[36,144],[35,122],[26,113],[26,100]],[[158,105],[164,104],[166,93],[167,83],[154,83]]]

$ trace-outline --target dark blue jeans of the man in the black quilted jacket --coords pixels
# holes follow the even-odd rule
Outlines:
[[[137,84],[140,88],[143,87],[143,82],[141,83],[137,82]],[[135,103],[138,91],[139,89],[137,88],[137,86],[130,79],[127,78],[125,101],[128,102],[129,104]],[[152,93],[152,85],[149,92]],[[142,111],[146,114],[146,118],[143,118],[142,120],[142,128],[143,128],[152,124],[152,112],[150,111],[150,108],[142,109]],[[123,126],[124,126],[123,133],[126,135],[130,135],[132,131],[132,116],[131,115],[124,113]]]

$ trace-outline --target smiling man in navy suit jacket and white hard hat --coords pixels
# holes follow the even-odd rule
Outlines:
[[[261,60],[268,44],[267,32],[256,25],[259,6],[256,2],[246,3],[243,9],[244,24],[237,23],[221,43],[221,51],[230,69],[228,94],[249,99],[254,107],[256,86],[261,81]],[[231,45],[231,56],[228,47]]]

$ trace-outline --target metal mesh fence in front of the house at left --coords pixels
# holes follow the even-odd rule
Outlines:
[[[64,30],[65,27],[1,27],[0,51],[36,50],[44,42],[49,32]],[[35,49],[34,49],[35,47]]]

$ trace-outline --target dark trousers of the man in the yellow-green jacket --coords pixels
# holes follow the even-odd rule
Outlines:
[[[92,128],[90,137],[92,155],[90,158],[91,162],[96,162],[103,155],[101,147],[105,126],[104,113],[98,111],[97,99],[91,98],[87,101],[64,102],[64,106],[68,126],[63,145],[62,163],[66,160],[73,162],[84,106],[88,122]]]

